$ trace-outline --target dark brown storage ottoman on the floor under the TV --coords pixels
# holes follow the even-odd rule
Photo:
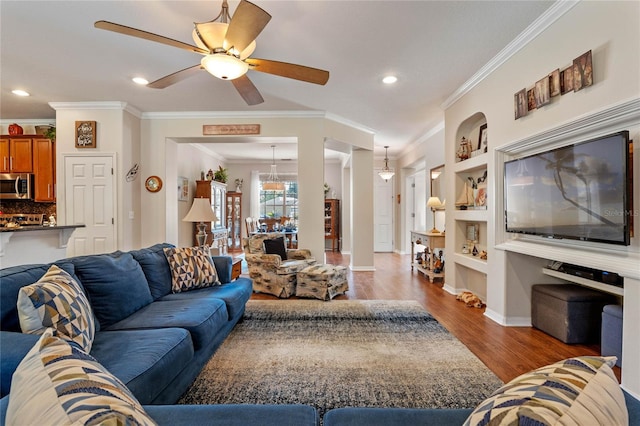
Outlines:
[[[613,296],[579,285],[534,284],[531,324],[564,343],[597,343],[602,309],[611,303]]]

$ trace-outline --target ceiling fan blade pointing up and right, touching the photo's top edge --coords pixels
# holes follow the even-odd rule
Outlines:
[[[226,48],[242,52],[267,26],[271,15],[255,4],[242,0],[233,13],[225,36]]]

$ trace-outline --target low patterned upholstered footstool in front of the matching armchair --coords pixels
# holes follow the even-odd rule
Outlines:
[[[331,300],[349,290],[347,268],[340,265],[307,266],[298,272],[296,296]]]

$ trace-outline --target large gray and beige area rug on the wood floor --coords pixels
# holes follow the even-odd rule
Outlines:
[[[251,300],[178,403],[473,408],[501,385],[417,302]]]

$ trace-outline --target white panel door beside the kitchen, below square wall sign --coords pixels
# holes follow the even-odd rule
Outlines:
[[[113,156],[67,156],[64,159],[65,221],[77,228],[68,256],[115,250]]]

